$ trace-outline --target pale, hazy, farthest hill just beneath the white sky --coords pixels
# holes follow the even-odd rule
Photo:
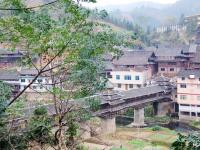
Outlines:
[[[113,18],[121,18],[141,26],[160,26],[175,24],[179,17],[200,14],[200,0],[179,0],[174,4],[157,4],[152,2],[132,3],[129,5],[107,6]]]

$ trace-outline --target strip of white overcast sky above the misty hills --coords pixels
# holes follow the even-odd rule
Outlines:
[[[95,7],[95,6],[106,6],[106,5],[121,5],[121,4],[129,4],[133,2],[142,2],[142,1],[151,1],[151,2],[157,2],[162,4],[168,4],[168,3],[175,3],[177,0],[97,0],[96,4],[87,4],[89,7]]]

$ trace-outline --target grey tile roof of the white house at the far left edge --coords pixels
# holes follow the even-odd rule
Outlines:
[[[2,70],[0,71],[0,80],[1,81],[13,81],[13,80],[19,80],[19,72],[15,71],[7,71]]]

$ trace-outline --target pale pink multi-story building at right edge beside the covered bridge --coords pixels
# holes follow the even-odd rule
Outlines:
[[[182,70],[177,77],[180,120],[200,120],[200,70]]]

